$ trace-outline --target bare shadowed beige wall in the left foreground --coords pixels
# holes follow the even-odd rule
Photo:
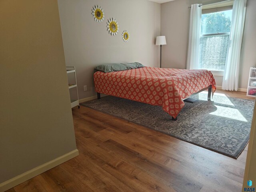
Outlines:
[[[76,149],[57,0],[0,0],[0,184]]]

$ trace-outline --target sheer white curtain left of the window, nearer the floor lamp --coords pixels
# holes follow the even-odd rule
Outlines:
[[[191,5],[190,10],[187,69],[199,68],[199,47],[202,17],[202,6],[199,5],[200,4]]]

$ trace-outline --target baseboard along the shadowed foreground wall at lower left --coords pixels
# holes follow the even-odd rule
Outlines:
[[[67,154],[64,154],[54,160],[51,160],[45,164],[42,164],[36,168],[33,168],[32,170],[29,170],[23,174],[20,174],[10,180],[7,180],[0,184],[0,192],[4,192],[10,188],[13,188],[14,186],[21,184],[43,172],[46,172],[47,170],[50,170],[51,168],[54,168],[76,156],[78,156],[79,152],[78,150],[73,150]]]

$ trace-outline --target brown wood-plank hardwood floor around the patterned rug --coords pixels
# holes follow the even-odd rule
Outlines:
[[[90,108],[72,112],[79,156],[8,192],[242,190],[248,146],[236,160]]]

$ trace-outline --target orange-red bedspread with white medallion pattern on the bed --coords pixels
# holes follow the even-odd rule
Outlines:
[[[186,70],[143,67],[118,72],[95,72],[95,91],[162,106],[170,116],[176,118],[188,98],[210,85],[212,94],[216,82],[208,70]]]

